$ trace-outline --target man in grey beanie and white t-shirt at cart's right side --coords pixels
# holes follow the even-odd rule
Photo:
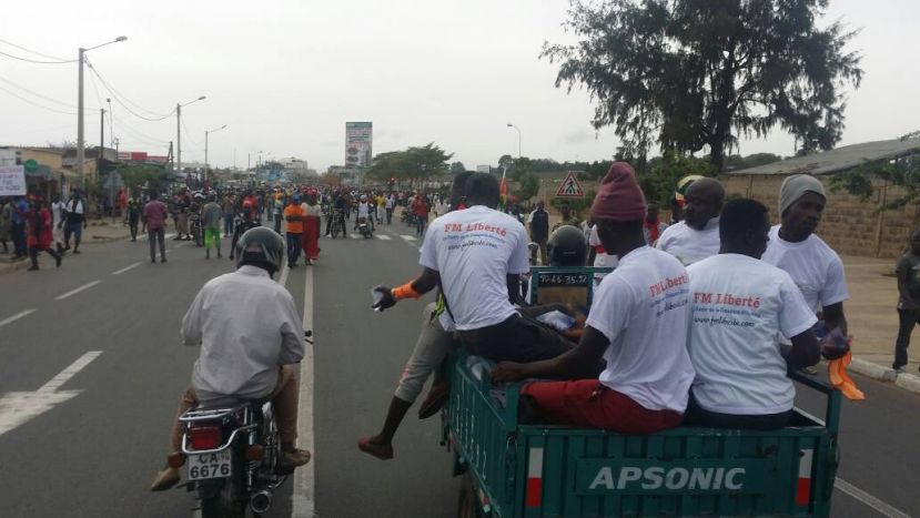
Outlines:
[[[825,186],[815,176],[793,174],[779,189],[780,224],[770,228],[764,262],[785,270],[812,312],[821,311],[815,333],[847,336],[843,301],[850,298],[843,262],[815,234],[827,204]],[[819,317],[820,319],[820,317]],[[813,369],[807,370],[816,374]]]

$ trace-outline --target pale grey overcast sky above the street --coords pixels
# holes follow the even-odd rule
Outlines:
[[[75,59],[81,45],[127,35],[88,57],[138,114],[155,119],[206,95],[183,109],[183,162],[203,161],[204,131],[223,124],[210,139],[219,166],[244,167],[262,151],[325,171],[344,163],[346,121],[374,123],[375,154],[433,141],[469,169],[517,153],[508,122],[532,158],[604,160],[617,146],[613,131],[592,129],[588,95],[554,88],[556,65],[537,59],[544,40],[570,41],[560,27],[565,0],[7,3],[0,39],[49,55]],[[920,1],[830,4],[828,19],[862,28],[853,48],[866,70],[840,145],[920,129]],[[4,42],[0,52],[46,59]],[[85,103],[97,111],[87,140],[97,145],[100,100],[112,95],[93,79],[88,70]],[[0,145],[75,141],[75,63],[0,55]],[[174,116],[150,122],[112,105],[122,151],[166,154]],[[742,154],[756,152],[791,154],[792,139],[777,131],[742,143]]]

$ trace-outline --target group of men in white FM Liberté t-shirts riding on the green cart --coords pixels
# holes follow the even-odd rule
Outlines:
[[[849,354],[849,294],[840,257],[815,234],[827,196],[812,176],[782,184],[779,225],[770,226],[759,202],[726,203],[712,179],[688,182],[666,225],[629,164],[615,163],[589,222],[566,211],[553,231],[538,204],[527,216],[529,238],[517,217],[497,210],[492,176],[458,180],[454,210],[423,242],[422,273],[375,288],[381,311],[431,291],[437,297],[423,312],[383,428],[358,440],[370,455],[393,457],[392,438],[431,375],[419,417],[444,404],[442,365],[452,347],[496,362],[494,382],[529,379],[525,423],[638,434],[680,424],[782,427],[795,398],[787,373]],[[559,306],[528,306],[520,285],[534,264],[528,242],[554,264],[563,231],[579,243],[573,250],[596,243],[592,254],[570,254],[570,265],[603,254],[616,268],[599,280],[587,315],[562,307],[576,324],[558,332],[537,316]]]

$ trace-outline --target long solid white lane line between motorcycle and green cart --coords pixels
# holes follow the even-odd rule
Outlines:
[[[313,268],[306,270],[303,288],[303,328],[313,331]],[[315,342],[316,335],[311,338]],[[301,360],[300,408],[297,410],[297,436],[301,447],[313,454],[306,466],[294,471],[294,494],[292,495],[292,518],[313,518],[315,516],[316,451],[313,437],[313,344],[304,344]]]

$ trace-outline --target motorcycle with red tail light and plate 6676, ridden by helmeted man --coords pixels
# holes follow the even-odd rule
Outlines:
[[[312,344],[313,333],[304,341]],[[182,454],[170,464],[188,464],[186,487],[201,500],[202,518],[243,518],[267,512],[275,490],[293,469],[282,471],[281,437],[271,402],[236,400],[212,408],[196,407],[180,423]]]

